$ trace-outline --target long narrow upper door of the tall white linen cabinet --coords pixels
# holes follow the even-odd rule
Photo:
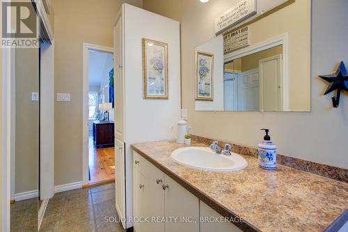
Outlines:
[[[122,14],[118,17],[114,27],[114,80],[115,80],[115,136],[124,141],[124,76],[123,76],[123,41]]]

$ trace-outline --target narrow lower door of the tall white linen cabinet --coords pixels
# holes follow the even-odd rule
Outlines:
[[[120,217],[125,217],[125,144],[120,140],[116,140],[115,169],[116,210]]]

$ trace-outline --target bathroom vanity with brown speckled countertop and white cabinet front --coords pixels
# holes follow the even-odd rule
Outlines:
[[[136,222],[135,231],[324,231],[348,208],[345,182],[283,165],[267,171],[250,156],[242,156],[247,167],[233,172],[193,169],[171,158],[182,147],[188,146],[174,141],[132,145],[134,217],[163,220]],[[207,222],[207,217],[230,221]],[[180,222],[187,218],[193,222]]]

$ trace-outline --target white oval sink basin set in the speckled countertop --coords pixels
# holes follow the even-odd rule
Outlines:
[[[180,165],[212,172],[231,172],[248,166],[246,160],[237,154],[231,156],[216,154],[209,147],[183,147],[171,154]]]

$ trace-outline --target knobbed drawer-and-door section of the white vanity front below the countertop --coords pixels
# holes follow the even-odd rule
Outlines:
[[[199,231],[199,199],[135,151],[133,202],[135,219],[148,219],[145,223],[134,222],[136,232]],[[172,222],[162,221],[165,219]]]

